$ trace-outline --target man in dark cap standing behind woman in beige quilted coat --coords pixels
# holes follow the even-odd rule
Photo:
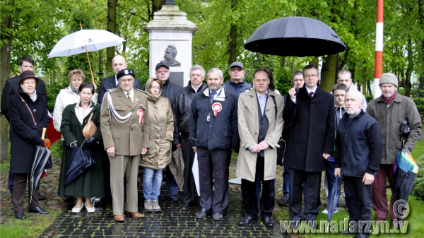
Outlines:
[[[160,61],[156,64],[156,78],[162,81],[162,93],[160,96],[166,97],[170,100],[171,105],[174,105],[175,97],[177,96],[178,90],[181,89],[179,85],[170,82],[170,66],[165,61]],[[173,109],[172,109],[173,111]],[[176,150],[175,143],[172,143],[172,151]],[[178,185],[175,181],[174,175],[169,167],[166,167],[166,179],[165,179],[166,193],[170,196],[171,201],[179,201],[178,196]]]

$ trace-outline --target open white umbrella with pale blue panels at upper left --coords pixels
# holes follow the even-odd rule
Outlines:
[[[80,23],[81,25],[81,23]],[[86,53],[90,66],[91,79],[94,83],[93,71],[91,70],[90,57],[88,52],[96,52],[99,49],[114,47],[125,40],[107,30],[81,30],[73,32],[61,38],[49,53],[49,58],[59,56],[71,56],[74,54]]]

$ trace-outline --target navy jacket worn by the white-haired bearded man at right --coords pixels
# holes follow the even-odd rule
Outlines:
[[[345,113],[338,123],[334,167],[348,177],[375,175],[382,153],[383,136],[377,120],[363,110],[353,119]]]

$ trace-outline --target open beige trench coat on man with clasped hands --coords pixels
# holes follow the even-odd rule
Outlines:
[[[268,131],[264,141],[269,144],[265,150],[264,180],[276,178],[277,172],[277,147],[278,140],[283,132],[283,109],[284,98],[281,95],[268,91],[265,115],[269,121]],[[275,97],[277,104],[277,115],[275,105],[271,97]],[[240,94],[238,100],[238,130],[240,135],[240,151],[237,159],[236,176],[247,179],[251,182],[255,180],[257,153],[251,153],[250,145],[259,143],[259,114],[256,90]]]

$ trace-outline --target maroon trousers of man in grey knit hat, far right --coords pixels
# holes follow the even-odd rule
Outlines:
[[[389,214],[387,207],[387,183],[386,178],[389,179],[391,194],[394,192],[393,165],[380,165],[375,174],[374,182],[372,183],[372,208],[375,211],[375,218],[382,218],[386,220]],[[346,189],[345,189],[346,190]],[[390,219],[394,220],[396,216],[393,213],[394,196],[390,199]]]

